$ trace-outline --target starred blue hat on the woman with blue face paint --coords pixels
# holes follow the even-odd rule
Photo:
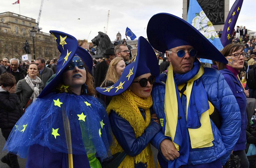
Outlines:
[[[53,38],[57,42],[60,58],[57,62],[56,76],[42,90],[37,98],[42,98],[49,94],[62,81],[62,74],[66,67],[72,61],[74,56],[79,56],[85,63],[89,71],[92,71],[92,57],[88,51],[78,46],[77,39],[67,33],[51,30]]]

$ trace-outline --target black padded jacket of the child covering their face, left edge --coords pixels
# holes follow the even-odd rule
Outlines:
[[[17,94],[0,92],[0,128],[12,129],[23,115],[23,109]]]

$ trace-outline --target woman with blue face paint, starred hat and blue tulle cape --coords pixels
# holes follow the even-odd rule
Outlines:
[[[111,156],[109,121],[94,98],[91,55],[66,33],[50,31],[57,74],[16,123],[4,150],[27,157],[27,168],[100,167]]]

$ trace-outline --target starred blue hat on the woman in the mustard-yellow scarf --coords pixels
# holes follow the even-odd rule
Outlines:
[[[135,59],[124,68],[120,79],[110,87],[97,87],[96,90],[106,96],[115,96],[127,90],[134,78],[147,73],[157,76],[159,74],[159,65],[152,46],[144,37],[139,37]]]

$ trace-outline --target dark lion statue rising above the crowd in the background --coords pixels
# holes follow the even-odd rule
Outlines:
[[[92,39],[93,46],[96,47],[96,55],[95,58],[103,57],[103,54],[107,48],[114,47],[114,45],[111,43],[109,37],[107,34],[103,32],[98,32],[98,36],[96,36],[94,39]]]

